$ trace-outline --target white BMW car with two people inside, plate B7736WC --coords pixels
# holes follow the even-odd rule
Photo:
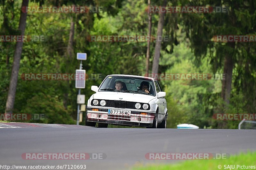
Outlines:
[[[156,79],[137,75],[108,75],[87,103],[85,125],[108,124],[166,128],[167,104]]]

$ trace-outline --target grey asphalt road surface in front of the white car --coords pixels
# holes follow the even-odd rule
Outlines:
[[[148,160],[146,153],[228,153],[256,150],[256,130],[94,128],[0,129],[0,165],[86,165],[128,169],[177,160]],[[22,153],[104,153],[105,159],[26,160]],[[218,161],[218,160],[216,160]]]

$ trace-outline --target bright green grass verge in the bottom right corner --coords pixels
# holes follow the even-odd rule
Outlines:
[[[175,164],[146,164],[146,166],[141,164],[136,164],[132,169],[136,170],[181,170],[181,169],[193,169],[193,170],[218,170],[218,169],[230,169],[228,165],[235,166],[234,169],[246,169],[244,166],[254,166],[252,168],[247,167],[247,169],[255,169],[256,168],[256,152],[247,152],[240,153],[239,155],[231,155],[228,159],[210,159],[210,160],[186,160],[180,163]],[[225,166],[226,165],[226,168]],[[238,167],[237,165],[241,165],[242,167]],[[219,167],[218,167],[219,166]],[[221,166],[221,167],[220,167]],[[230,166],[231,167],[231,166]]]

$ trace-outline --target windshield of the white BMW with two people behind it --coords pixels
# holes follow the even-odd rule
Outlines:
[[[149,93],[146,93],[145,90]],[[156,96],[152,80],[129,76],[108,76],[101,84],[99,91],[138,93]]]

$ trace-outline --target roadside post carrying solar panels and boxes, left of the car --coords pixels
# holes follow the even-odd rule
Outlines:
[[[80,60],[79,69],[76,70],[76,89],[78,89],[76,125],[79,125],[80,104],[85,103],[85,95],[81,95],[81,89],[85,89],[85,78],[86,78],[85,70],[83,70],[82,61],[87,59],[87,54],[86,53],[76,53],[76,59]]]

